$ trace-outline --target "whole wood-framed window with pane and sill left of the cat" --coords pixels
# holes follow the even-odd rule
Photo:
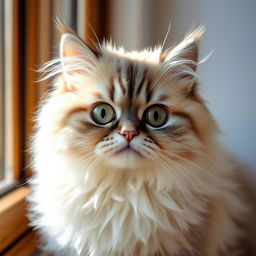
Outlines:
[[[32,255],[37,247],[28,226],[26,180],[33,117],[47,81],[40,65],[58,54],[57,16],[88,43],[101,39],[106,3],[99,0],[0,0],[0,254]],[[88,23],[87,23],[88,22]],[[90,25],[89,25],[90,24]],[[86,35],[86,36],[85,36]],[[96,39],[95,39],[96,40]],[[33,240],[33,241],[32,241]]]

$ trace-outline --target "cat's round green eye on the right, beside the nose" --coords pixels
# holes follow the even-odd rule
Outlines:
[[[167,122],[167,113],[163,107],[153,105],[145,110],[144,120],[152,127],[161,127]]]

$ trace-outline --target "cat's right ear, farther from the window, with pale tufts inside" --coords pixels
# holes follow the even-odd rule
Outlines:
[[[192,71],[196,71],[198,65],[198,45],[204,31],[204,27],[195,29],[177,46],[163,52],[160,56],[160,62],[181,63],[190,67]]]

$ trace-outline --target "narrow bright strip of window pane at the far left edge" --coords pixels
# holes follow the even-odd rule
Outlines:
[[[16,54],[15,43],[13,42],[13,5],[11,1],[0,2],[0,193],[7,191],[17,183],[18,178],[15,174],[15,152],[19,150],[14,146],[17,136],[14,135],[15,117],[14,117],[14,102],[17,95],[15,88],[14,73],[16,64],[14,64],[14,57]],[[16,126],[16,129],[18,129]],[[14,145],[15,144],[15,145]]]

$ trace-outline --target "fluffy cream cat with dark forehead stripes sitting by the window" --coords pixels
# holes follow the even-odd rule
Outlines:
[[[240,255],[247,208],[196,73],[177,46],[89,47],[62,28],[36,117],[30,219],[55,255]]]

